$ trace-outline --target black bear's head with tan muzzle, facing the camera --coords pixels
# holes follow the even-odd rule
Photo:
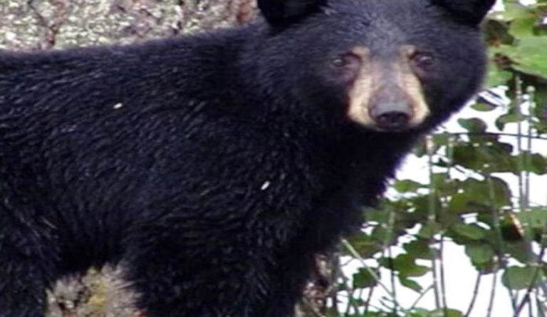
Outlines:
[[[494,0],[259,0],[257,76],[308,120],[429,130],[479,89]]]

